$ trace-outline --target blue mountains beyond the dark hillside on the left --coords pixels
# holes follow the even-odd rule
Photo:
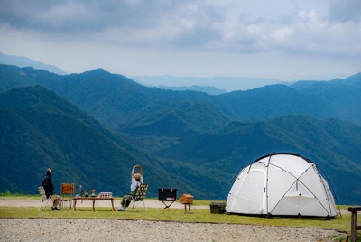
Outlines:
[[[360,81],[357,74],[295,88],[272,85],[211,96],[146,88],[100,69],[59,76],[0,65],[0,94],[34,85],[56,92],[116,132],[129,155],[147,157],[141,160],[153,175],[150,183],[159,184],[153,170],[161,167],[180,182],[180,191],[210,200],[226,197],[245,163],[271,152],[294,152],[321,166],[341,202],[359,203]]]

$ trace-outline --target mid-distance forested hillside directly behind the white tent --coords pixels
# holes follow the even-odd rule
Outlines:
[[[219,191],[229,189],[230,178],[243,166],[264,154],[292,152],[308,157],[324,171],[339,200],[358,202],[361,191],[361,127],[339,119],[317,120],[309,116],[283,116],[264,122],[233,122],[212,133],[165,137],[157,130],[124,130],[129,143],[149,154],[171,161],[173,169],[196,165],[223,181]],[[177,129],[177,127],[175,127]],[[153,130],[153,134],[150,134]],[[129,135],[131,133],[131,135]],[[158,145],[155,145],[158,144]],[[196,179],[196,178],[195,178]],[[222,184],[222,183],[221,183]],[[211,189],[209,187],[209,189]]]

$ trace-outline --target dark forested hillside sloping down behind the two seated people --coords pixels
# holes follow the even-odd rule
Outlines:
[[[58,192],[60,182],[75,182],[88,190],[122,196],[129,190],[135,163],[143,165],[144,175],[152,181],[153,196],[163,184],[187,188],[181,181],[172,181],[155,159],[45,88],[17,88],[1,94],[0,113],[1,191],[32,194],[51,167]]]

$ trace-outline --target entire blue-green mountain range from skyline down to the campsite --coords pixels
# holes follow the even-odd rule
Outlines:
[[[208,95],[100,69],[56,75],[0,65],[1,188],[36,191],[53,166],[58,183],[121,196],[140,163],[153,196],[176,186],[219,200],[242,166],[294,152],[319,165],[340,203],[359,204],[360,90],[361,73]]]

